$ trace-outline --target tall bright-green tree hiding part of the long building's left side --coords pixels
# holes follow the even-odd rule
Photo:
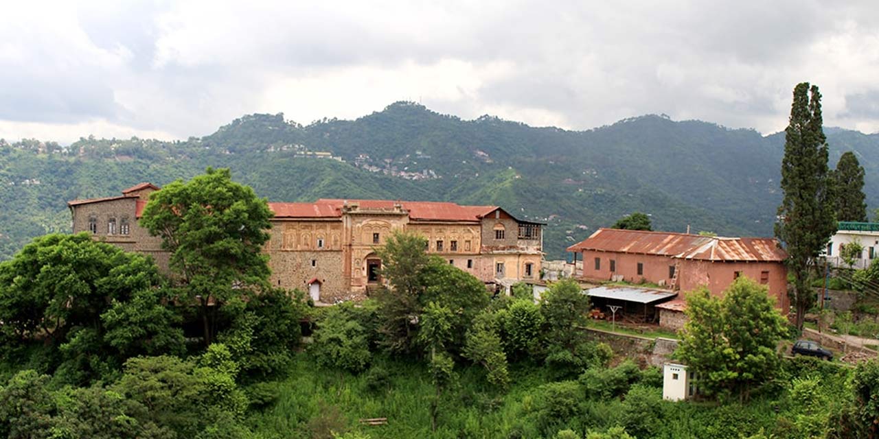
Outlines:
[[[141,225],[162,238],[174,280],[200,304],[206,344],[216,334],[217,308],[240,296],[241,287],[265,286],[268,256],[261,250],[271,218],[265,199],[233,182],[229,169],[208,168],[150,195]]]

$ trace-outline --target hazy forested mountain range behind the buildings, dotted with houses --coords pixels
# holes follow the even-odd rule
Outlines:
[[[868,204],[879,204],[879,135],[827,134],[831,167],[854,150],[867,169]],[[649,213],[658,229],[769,235],[781,199],[783,143],[783,133],[763,137],[662,116],[572,132],[490,116],[462,120],[410,103],[309,126],[282,114],[248,115],[185,141],[89,137],[62,147],[0,140],[0,258],[33,236],[69,230],[70,199],[114,195],[142,181],[167,184],[207,166],[231,168],[236,180],[274,201],[501,205],[548,222],[549,257],[633,211]]]

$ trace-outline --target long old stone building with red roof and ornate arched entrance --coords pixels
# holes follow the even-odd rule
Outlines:
[[[121,197],[69,202],[74,232],[91,231],[95,239],[154,255],[166,269],[161,242],[134,220],[126,221],[122,235],[119,222],[140,218],[149,192],[156,190],[139,184]],[[375,250],[395,230],[423,235],[428,253],[487,284],[540,277],[543,225],[515,219],[498,206],[342,199],[269,206],[275,213],[265,245],[272,284],[309,291],[323,302],[361,299],[369,286],[380,284]]]

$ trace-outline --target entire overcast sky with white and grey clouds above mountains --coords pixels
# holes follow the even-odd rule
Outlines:
[[[768,4],[771,4],[768,5]],[[795,83],[879,131],[879,2],[7,2],[0,138],[185,139],[398,100],[588,129],[645,113],[774,133]]]

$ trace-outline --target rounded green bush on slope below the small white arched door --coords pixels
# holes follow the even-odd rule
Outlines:
[[[350,302],[332,306],[318,320],[311,351],[323,367],[357,373],[369,364],[372,353],[367,332],[353,318],[353,308]]]

